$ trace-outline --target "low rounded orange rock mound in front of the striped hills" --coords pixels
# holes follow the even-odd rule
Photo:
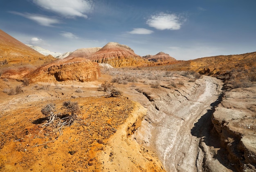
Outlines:
[[[38,68],[28,75],[32,82],[50,81],[96,81],[100,75],[99,65],[84,58],[58,59]]]

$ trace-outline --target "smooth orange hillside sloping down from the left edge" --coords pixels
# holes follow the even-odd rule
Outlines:
[[[0,30],[0,76],[22,79],[37,67],[55,60],[29,48]]]

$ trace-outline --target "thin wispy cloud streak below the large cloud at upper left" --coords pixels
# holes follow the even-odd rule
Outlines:
[[[31,13],[19,13],[16,11],[9,11],[10,13],[20,15],[27,19],[33,20],[42,26],[53,26],[53,24],[61,23],[60,20],[57,18],[49,17],[46,15],[38,15],[38,14],[31,14]]]

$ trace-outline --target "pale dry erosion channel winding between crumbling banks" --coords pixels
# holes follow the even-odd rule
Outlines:
[[[161,87],[147,95],[147,103],[136,98],[148,112],[133,137],[154,151],[169,172],[229,171],[216,158],[220,148],[211,135],[221,89],[220,80],[204,76],[189,88]]]

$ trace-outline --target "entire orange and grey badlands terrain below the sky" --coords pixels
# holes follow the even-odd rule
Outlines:
[[[176,61],[111,42],[54,59],[0,30],[0,62],[0,171],[256,170],[255,52]]]

